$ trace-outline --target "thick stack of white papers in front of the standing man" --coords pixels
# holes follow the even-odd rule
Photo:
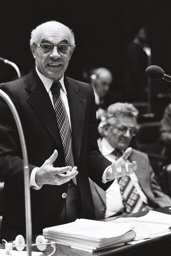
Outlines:
[[[135,236],[134,227],[135,223],[76,219],[71,223],[44,228],[43,236],[55,243],[92,252],[130,241]]]

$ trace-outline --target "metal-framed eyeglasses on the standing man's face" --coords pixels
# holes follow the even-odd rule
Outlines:
[[[39,46],[37,46],[35,43],[33,44],[40,50],[40,53],[42,54],[51,54],[54,48],[56,48],[59,54],[68,54],[71,48],[70,45],[53,46],[50,44],[40,44]]]

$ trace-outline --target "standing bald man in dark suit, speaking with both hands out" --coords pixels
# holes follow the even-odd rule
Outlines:
[[[30,170],[32,234],[38,234],[78,217],[95,218],[88,176],[106,189],[126,173],[131,149],[112,164],[99,152],[93,89],[63,76],[75,48],[72,31],[55,21],[43,23],[32,31],[30,48],[35,67],[0,89],[21,120]],[[25,235],[23,160],[14,119],[1,98],[0,113],[1,237],[12,240]],[[130,163],[128,172],[135,169],[136,162]]]

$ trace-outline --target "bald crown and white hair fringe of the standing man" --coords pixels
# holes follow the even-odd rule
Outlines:
[[[62,33],[66,36],[66,38],[69,39],[69,44],[71,46],[74,45],[74,35],[71,29],[69,29],[67,26],[63,25],[62,23],[56,22],[56,21],[49,21],[42,23],[41,25],[37,26],[34,30],[31,32],[31,38],[30,38],[30,45],[33,43],[38,44],[41,42],[41,39],[45,36],[58,36],[60,37]]]

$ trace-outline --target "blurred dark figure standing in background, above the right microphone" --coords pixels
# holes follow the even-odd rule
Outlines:
[[[146,101],[146,68],[151,65],[150,48],[147,45],[147,29],[144,26],[134,28],[133,39],[125,49],[123,87],[126,101]],[[148,55],[147,55],[148,53]]]

